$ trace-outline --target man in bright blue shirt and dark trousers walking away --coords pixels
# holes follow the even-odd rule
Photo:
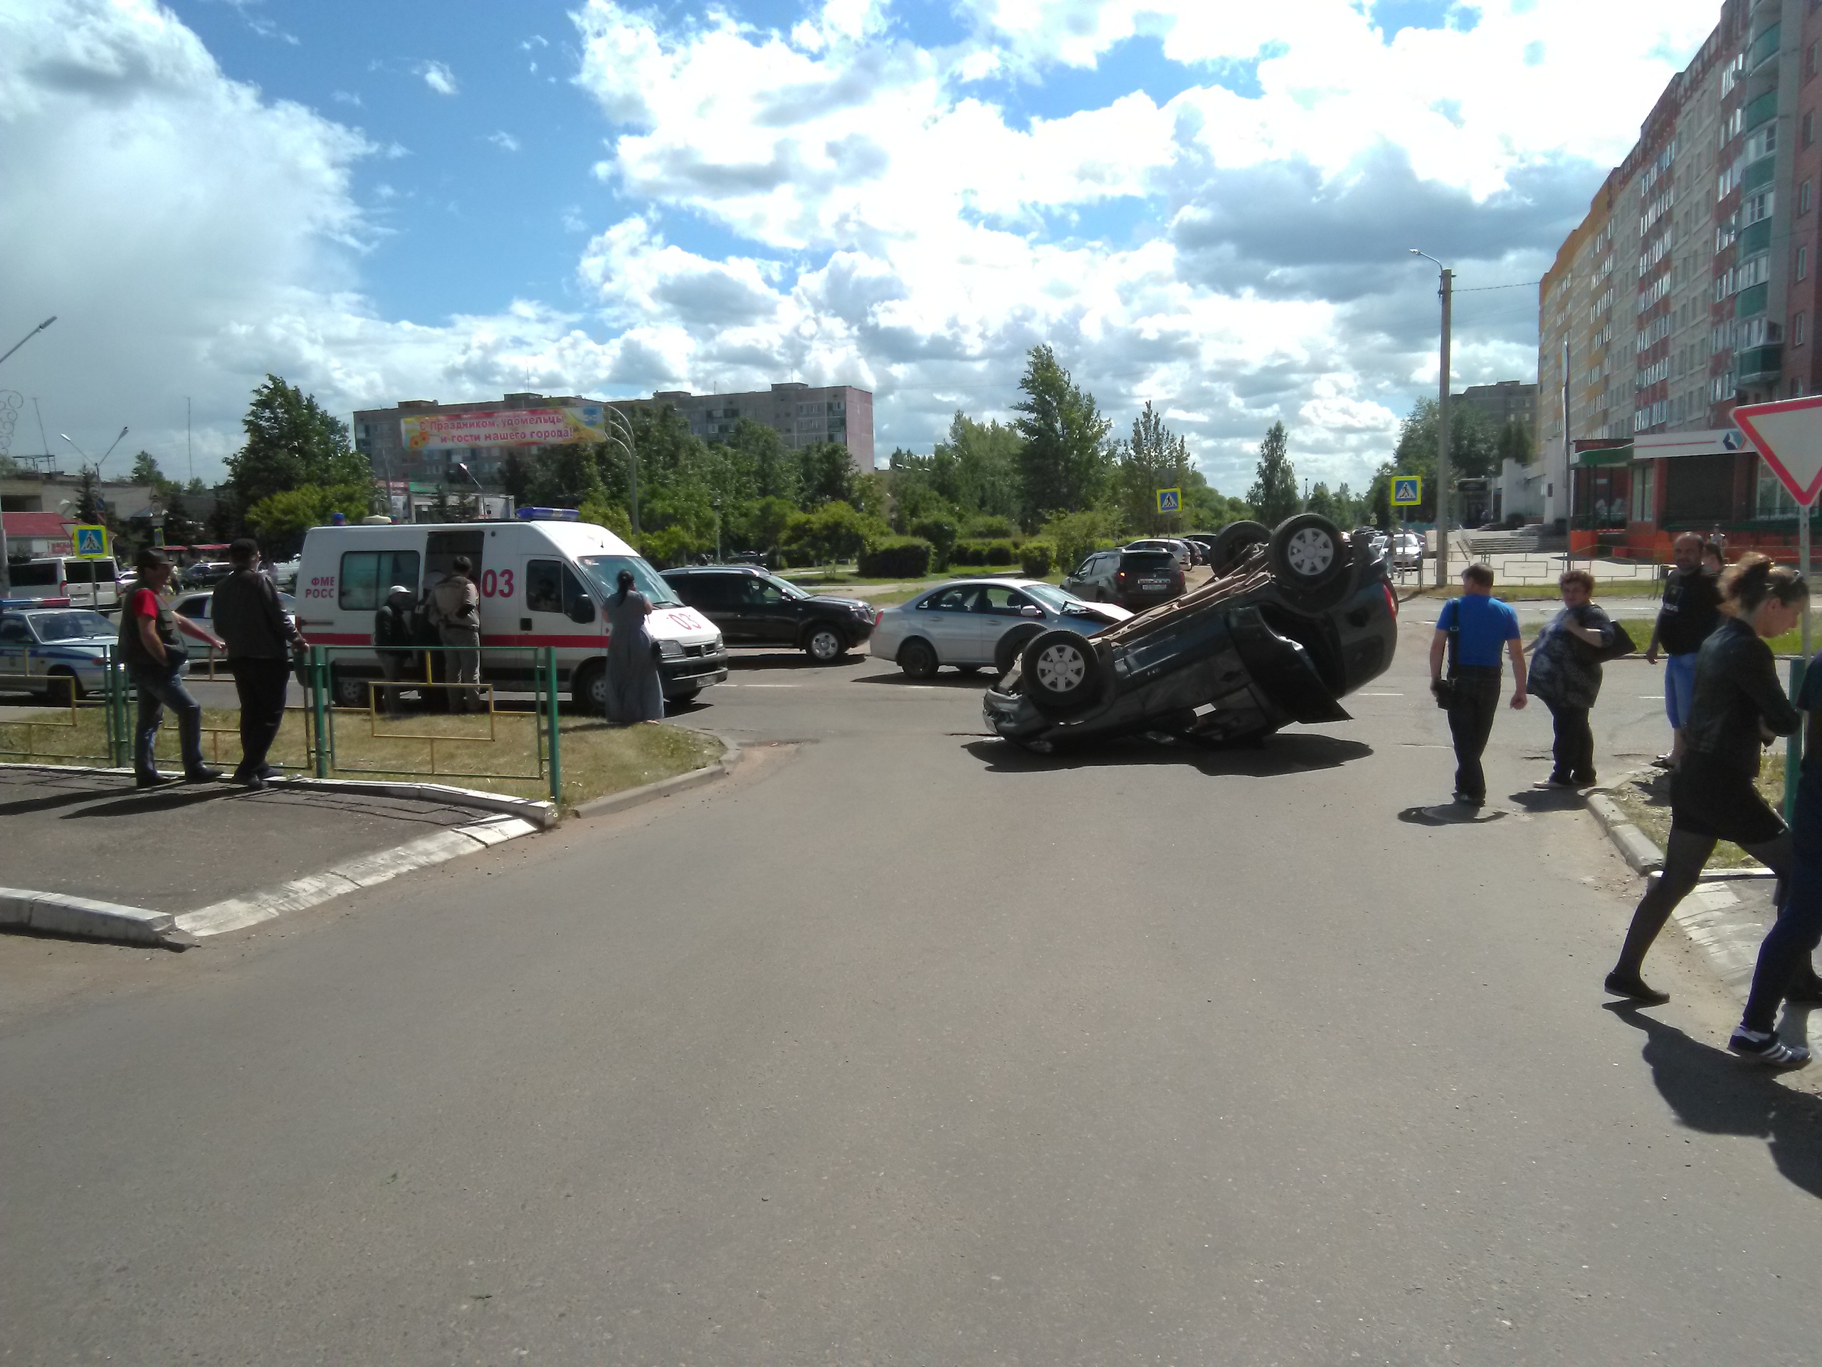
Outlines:
[[[1518,612],[1492,596],[1489,565],[1469,565],[1461,570],[1461,598],[1443,603],[1430,640],[1430,693],[1448,707],[1448,735],[1456,742],[1456,802],[1469,807],[1487,802],[1487,775],[1481,773],[1479,756],[1500,707],[1501,649],[1512,656],[1512,705],[1523,707],[1525,645],[1518,634]],[[1450,653],[1447,689],[1445,653]]]

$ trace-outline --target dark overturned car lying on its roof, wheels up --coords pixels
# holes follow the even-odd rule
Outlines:
[[[1210,549],[1215,578],[1090,638],[1046,631],[986,691],[988,727],[1031,749],[1133,733],[1252,740],[1346,722],[1341,698],[1397,643],[1385,550],[1317,514],[1243,521]]]

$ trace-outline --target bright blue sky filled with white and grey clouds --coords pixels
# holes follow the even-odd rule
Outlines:
[[[1434,277],[1536,281],[1713,4],[0,0],[0,386],[55,430],[776,379],[880,450],[1057,348],[1241,492],[1359,483],[1434,392]],[[1563,91],[1580,91],[1565,100]],[[1458,385],[1530,377],[1463,295]],[[35,445],[35,443],[33,443]]]

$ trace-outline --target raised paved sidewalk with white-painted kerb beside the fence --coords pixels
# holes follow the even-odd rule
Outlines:
[[[364,793],[250,793],[0,769],[5,882],[180,915],[468,826],[485,813]]]

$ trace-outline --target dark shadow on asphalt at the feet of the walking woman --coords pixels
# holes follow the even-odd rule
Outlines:
[[[1762,1068],[1698,1044],[1636,1006],[1609,1004],[1607,1010],[1645,1033],[1643,1059],[1676,1119],[1704,1134],[1766,1139],[1778,1172],[1811,1196],[1822,1196],[1822,1097],[1793,1092]],[[1807,1015],[1791,1010],[1782,1033],[1798,1039],[1798,1032],[1807,1030]]]

